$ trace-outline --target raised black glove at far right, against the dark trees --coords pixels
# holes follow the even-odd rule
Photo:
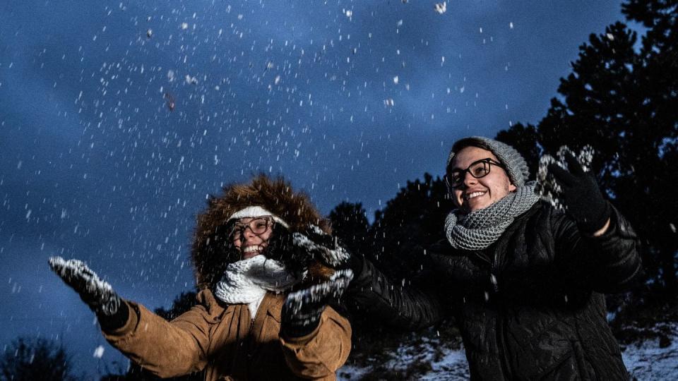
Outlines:
[[[567,213],[584,234],[594,234],[609,219],[609,203],[602,197],[593,174],[587,173],[571,152],[565,155],[569,171],[550,164],[549,172],[562,188]]]

